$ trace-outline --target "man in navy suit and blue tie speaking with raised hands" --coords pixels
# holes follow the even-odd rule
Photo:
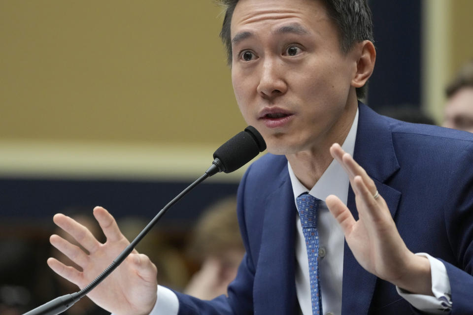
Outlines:
[[[246,254],[228,298],[156,293],[138,253],[89,297],[117,315],[471,313],[473,138],[357,101],[375,61],[366,1],[225,2],[236,100],[270,152],[238,189]],[[128,244],[106,210],[94,215],[105,244],[54,217],[89,253],[53,235],[83,272],[48,264],[80,287]]]

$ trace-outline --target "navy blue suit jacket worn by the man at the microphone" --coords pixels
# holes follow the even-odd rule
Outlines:
[[[376,183],[412,252],[446,266],[451,314],[473,314],[473,135],[400,122],[359,105],[354,158]],[[177,293],[179,314],[298,314],[296,207],[284,156],[253,163],[238,189],[246,254],[229,297]],[[353,191],[348,208],[358,219]],[[342,314],[416,314],[395,286],[365,271],[345,242]]]

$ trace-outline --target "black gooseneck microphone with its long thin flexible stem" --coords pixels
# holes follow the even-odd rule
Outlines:
[[[78,300],[87,295],[92,289],[100,284],[123,260],[135,249],[136,245],[168,211],[168,209],[179,201],[189,191],[202,183],[206,178],[219,172],[231,173],[255,158],[260,152],[266,150],[266,142],[261,134],[253,126],[248,126],[244,131],[237,133],[233,138],[225,142],[213,154],[212,165],[194,183],[189,185],[175,196],[161,209],[156,217],[136,236],[136,238],[121,252],[105,270],[82,290],[57,297],[23,315],[58,315],[66,311]]]

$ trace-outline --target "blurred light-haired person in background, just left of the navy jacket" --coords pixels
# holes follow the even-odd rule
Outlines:
[[[184,292],[203,300],[227,294],[245,253],[236,218],[236,196],[214,203],[197,222],[188,248],[197,271]]]

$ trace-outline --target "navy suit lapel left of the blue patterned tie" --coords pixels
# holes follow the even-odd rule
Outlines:
[[[287,166],[282,184],[266,200],[258,271],[255,275],[255,314],[296,314],[296,205]]]

